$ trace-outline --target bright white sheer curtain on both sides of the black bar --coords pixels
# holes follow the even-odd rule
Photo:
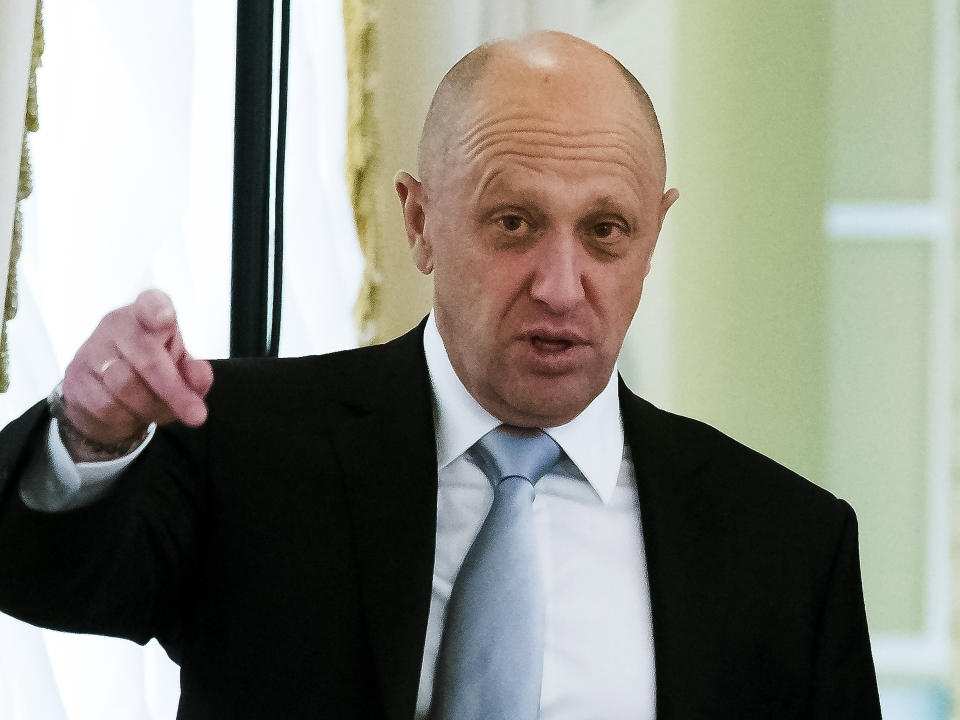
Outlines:
[[[194,354],[228,352],[235,2],[44,7],[35,192],[0,424],[44,397],[98,319],[145,287],[173,297]],[[343,180],[343,42],[339,2],[294,0],[283,354],[355,343],[361,258]],[[161,720],[175,716],[178,694],[178,670],[155,643],[0,615],[4,720]]]

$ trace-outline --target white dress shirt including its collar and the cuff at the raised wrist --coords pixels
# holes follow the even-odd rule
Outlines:
[[[466,451],[500,424],[460,382],[432,314],[424,350],[434,394],[439,494],[418,719],[430,707],[450,589],[493,503],[489,480]],[[650,594],[616,373],[578,417],[545,430],[565,456],[537,483],[533,506],[547,603],[541,720],[652,719]],[[48,512],[93,502],[149,440],[119,460],[74,464],[54,421],[46,452],[25,469],[21,497]]]

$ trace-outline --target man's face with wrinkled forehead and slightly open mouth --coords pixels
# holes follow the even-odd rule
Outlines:
[[[550,427],[609,380],[673,195],[622,83],[600,110],[498,84],[465,111],[442,176],[417,188],[411,241],[464,386],[503,422]]]

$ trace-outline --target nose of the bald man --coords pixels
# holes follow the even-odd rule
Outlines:
[[[569,312],[586,296],[584,249],[572,234],[543,240],[533,258],[530,296],[552,312]]]

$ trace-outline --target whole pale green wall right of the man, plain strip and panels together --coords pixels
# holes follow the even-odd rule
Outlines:
[[[930,2],[674,7],[675,407],[848,499],[872,631],[917,633],[929,250],[825,216],[930,199]]]

